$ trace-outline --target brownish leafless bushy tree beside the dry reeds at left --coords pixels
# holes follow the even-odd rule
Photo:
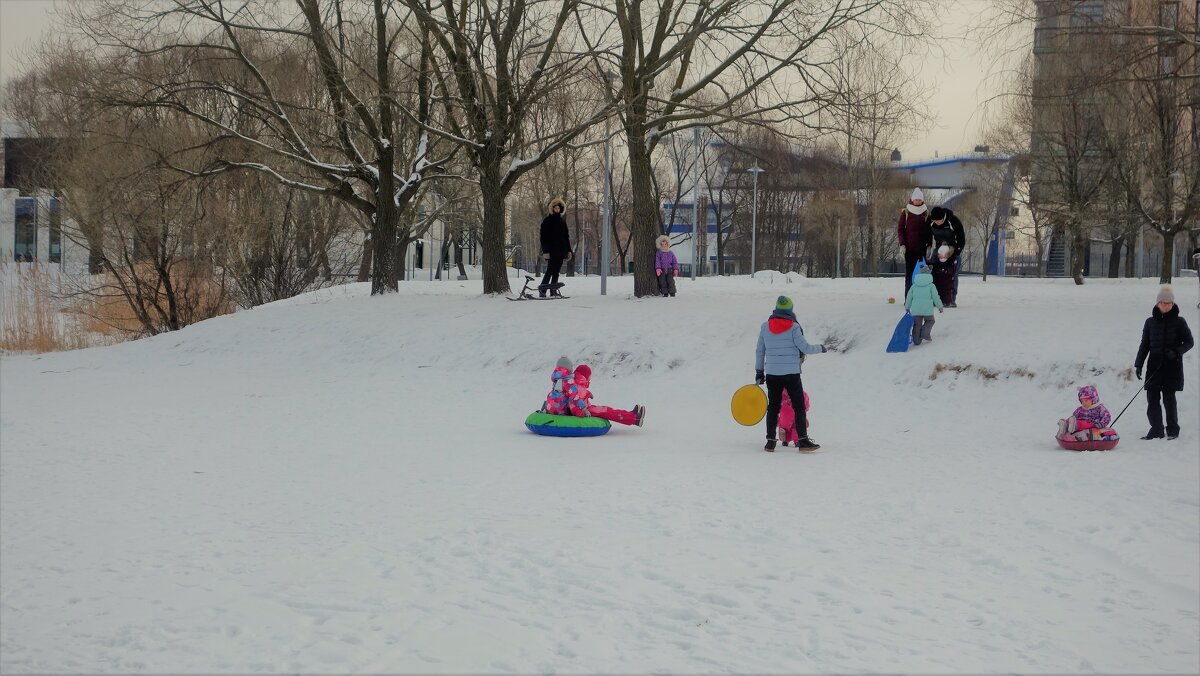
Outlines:
[[[131,121],[134,128],[109,119],[112,137],[77,140],[54,171],[64,235],[86,243],[100,262],[101,274],[78,279],[76,293],[98,307],[120,299],[139,333],[156,335],[233,309],[226,269],[217,265],[228,223],[211,211],[226,186],[166,171],[156,152],[139,146],[185,140],[181,128],[157,127],[151,138],[136,131],[146,120]]]

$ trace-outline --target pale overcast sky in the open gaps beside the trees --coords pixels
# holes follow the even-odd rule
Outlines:
[[[22,54],[42,31],[53,26],[55,1],[61,0],[0,0],[0,80],[19,72]],[[930,88],[913,96],[914,104],[932,104],[940,120],[925,134],[914,134],[900,144],[905,158],[964,152],[982,142],[980,106],[988,98],[984,74],[989,59],[958,36],[964,35],[965,26],[986,1],[955,1],[943,13],[943,32],[955,36],[943,44],[949,58],[926,62],[920,77]]]

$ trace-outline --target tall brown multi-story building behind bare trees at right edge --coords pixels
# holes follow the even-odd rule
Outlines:
[[[1034,1],[1030,185],[1033,201],[1057,213],[1048,274],[1070,274],[1070,219],[1082,221],[1088,239],[1093,228],[1105,229],[1096,237],[1105,245],[1084,251],[1084,274],[1103,274],[1106,265],[1096,265],[1096,258],[1121,255],[1122,245],[1127,261],[1132,253],[1144,257],[1139,271],[1157,274],[1162,239],[1152,233],[1136,239],[1132,231],[1139,229],[1138,219],[1114,197],[1114,154],[1156,150],[1132,136],[1123,146],[1114,121],[1133,116],[1140,104],[1135,88],[1153,86],[1164,101],[1174,101],[1164,107],[1175,115],[1172,122],[1192,130],[1192,151],[1200,148],[1198,6],[1196,0]],[[1124,231],[1114,225],[1118,217],[1129,222]],[[1139,241],[1144,255],[1132,249]],[[1176,249],[1184,262],[1183,247]]]

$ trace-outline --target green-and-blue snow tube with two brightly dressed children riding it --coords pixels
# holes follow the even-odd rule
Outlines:
[[[590,378],[592,369],[587,364],[580,364],[572,372],[571,360],[559,358],[550,376],[553,387],[546,395],[541,411],[526,418],[526,426],[539,435],[580,437],[607,432],[610,420],[623,425],[642,425],[646,419],[644,406],[622,411],[590,403]]]

